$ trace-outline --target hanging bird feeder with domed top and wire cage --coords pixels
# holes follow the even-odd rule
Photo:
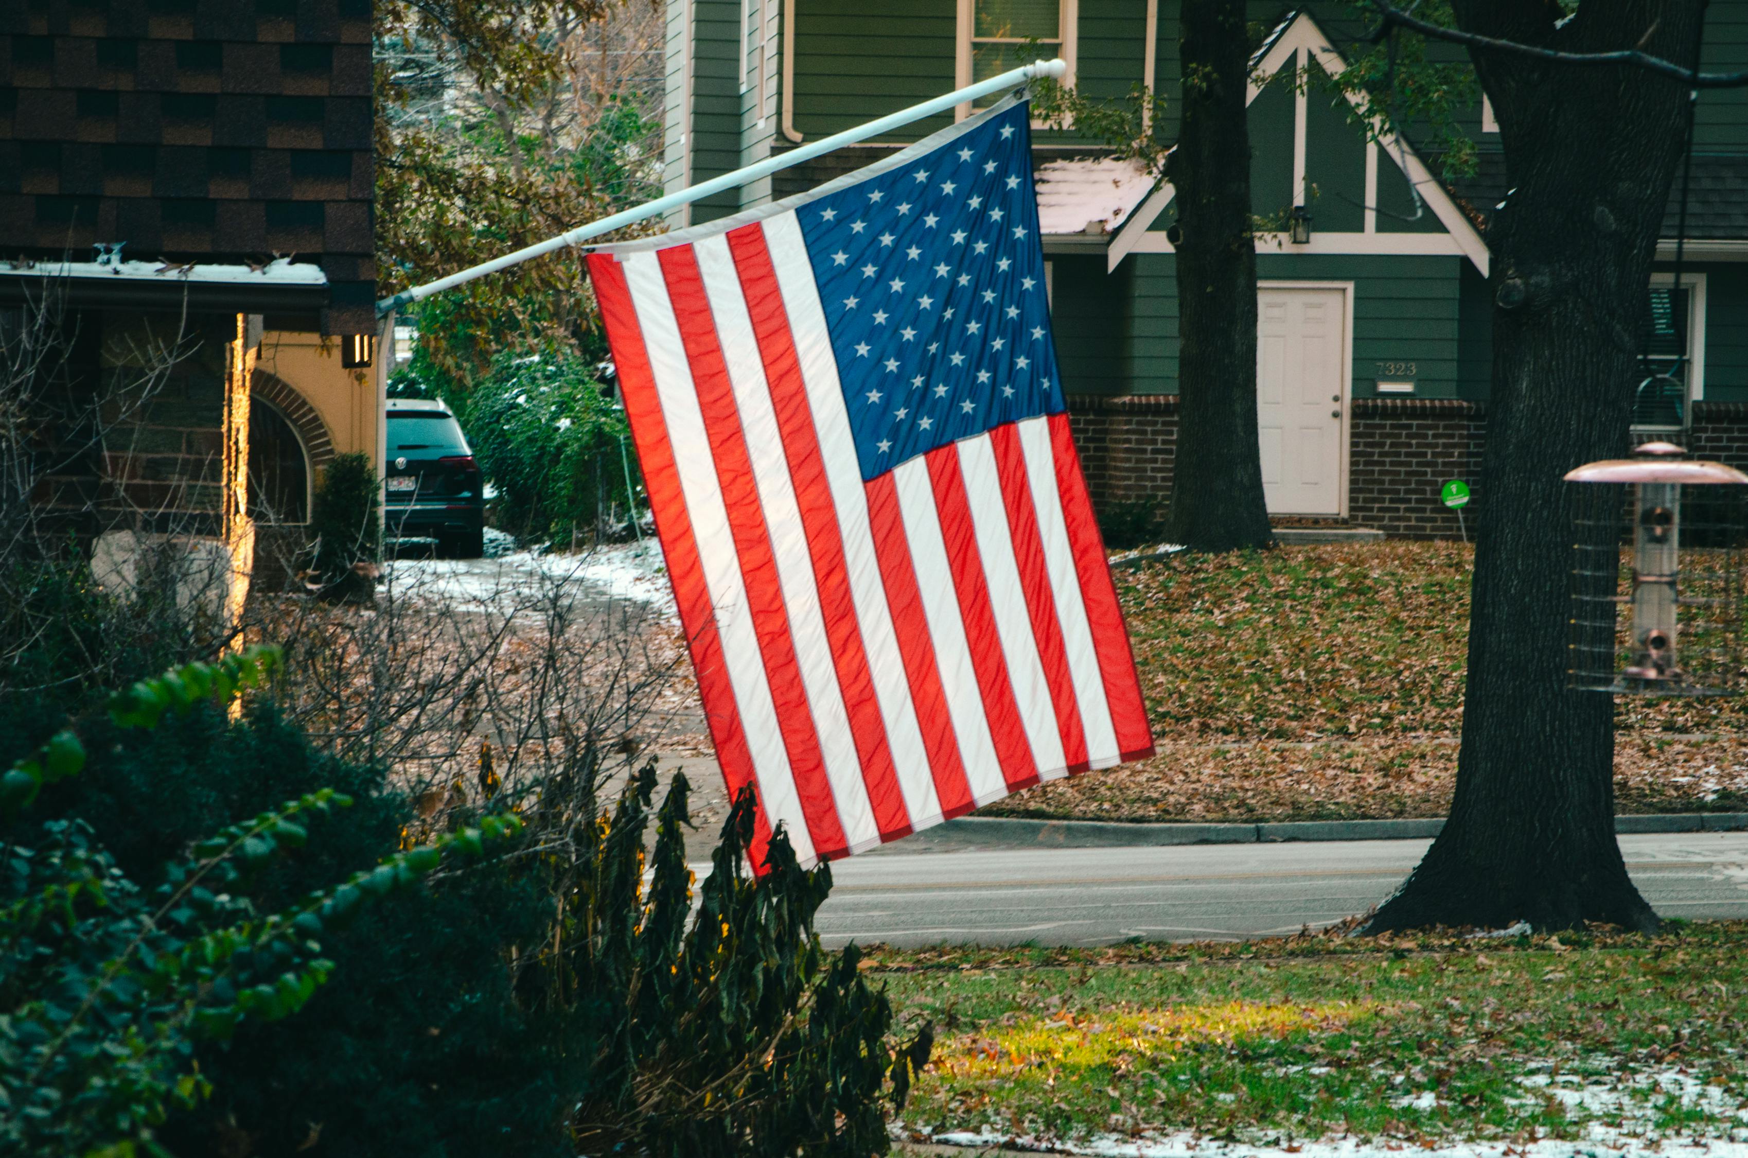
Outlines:
[[[1739,694],[1748,474],[1645,443],[1566,481],[1589,492],[1575,504],[1568,686]]]

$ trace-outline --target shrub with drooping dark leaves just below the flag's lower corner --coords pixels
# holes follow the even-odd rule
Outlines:
[[[891,1006],[857,973],[855,946],[820,950],[813,918],[827,866],[802,871],[781,831],[762,876],[746,871],[753,798],[729,813],[696,920],[682,827],[687,784],[661,808],[643,883],[656,785],[645,766],[612,817],[579,829],[554,866],[563,946],[549,992],[586,1050],[575,1151],[729,1158],[883,1155],[881,1088]]]

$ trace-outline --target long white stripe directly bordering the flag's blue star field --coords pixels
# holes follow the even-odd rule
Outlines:
[[[844,567],[850,570],[857,624],[862,628],[862,647],[867,651],[874,694],[886,722],[891,763],[904,791],[905,810],[911,813],[911,827],[928,827],[940,820],[940,798],[930,775],[923,731],[916,722],[916,703],[911,700],[911,680],[904,672],[898,633],[891,624],[886,586],[879,577],[874,532],[869,527],[869,497],[857,467],[857,443],[850,432],[850,413],[844,409],[844,390],[837,380],[837,359],[825,327],[820,289],[808,264],[808,243],[794,212],[766,220],[762,229],[771,268],[783,294],[783,310],[788,313],[801,380],[808,388],[808,408],[813,411],[813,430],[832,488],[832,506],[837,509],[837,532],[844,542]]]

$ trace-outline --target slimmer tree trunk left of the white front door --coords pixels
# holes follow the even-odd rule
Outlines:
[[[1257,450],[1257,247],[1250,233],[1245,0],[1183,0],[1178,437],[1164,534],[1196,551],[1274,546]]]

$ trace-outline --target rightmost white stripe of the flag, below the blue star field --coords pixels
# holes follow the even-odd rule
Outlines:
[[[1092,647],[1092,626],[1087,623],[1086,602],[1080,598],[1075,555],[1068,546],[1063,497],[1056,490],[1051,420],[1026,418],[1016,425],[1019,448],[1026,457],[1031,506],[1038,513],[1044,565],[1051,574],[1051,595],[1056,596],[1056,621],[1063,628],[1063,651],[1068,654],[1068,673],[1073,677],[1075,701],[1080,705],[1080,726],[1086,728],[1087,763],[1092,768],[1110,768],[1119,763],[1122,752],[1117,749],[1117,729],[1110,722],[1105,677],[1099,673],[1098,651]]]

